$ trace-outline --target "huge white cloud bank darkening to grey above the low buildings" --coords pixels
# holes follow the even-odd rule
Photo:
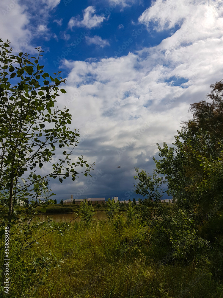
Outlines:
[[[105,196],[114,185],[117,191],[131,190],[134,167],[153,170],[156,143],[170,145],[180,122],[191,117],[189,104],[202,100],[209,85],[223,77],[223,7],[173,1],[170,23],[165,2],[154,2],[139,18],[156,30],[179,24],[157,46],[120,58],[64,62],[70,72],[60,103],[70,109],[80,136],[85,134],[77,152],[104,172],[89,194],[102,184]],[[118,164],[123,168],[115,172]]]

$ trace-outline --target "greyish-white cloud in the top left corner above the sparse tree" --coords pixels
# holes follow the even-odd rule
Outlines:
[[[15,52],[36,53],[36,38],[55,37],[47,28],[49,13],[60,0],[0,1],[1,38],[10,40]],[[44,35],[43,35],[44,34]],[[45,49],[46,50],[46,49]]]

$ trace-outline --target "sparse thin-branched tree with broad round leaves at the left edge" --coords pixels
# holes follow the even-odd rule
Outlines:
[[[68,127],[71,124],[69,109],[55,107],[58,92],[66,93],[59,89],[65,79],[60,77],[60,72],[53,77],[44,72],[44,66],[40,65],[43,51],[36,49],[37,58],[22,52],[12,55],[9,41],[0,39],[0,218],[1,228],[8,226],[9,235],[11,227],[18,225],[21,219],[31,222],[35,208],[42,204],[41,197],[46,201],[54,195],[48,188],[48,178],[62,183],[71,176],[74,181],[78,174],[76,167],[86,165],[80,172],[85,176],[93,167],[83,156],[78,157],[78,161],[72,159],[78,144],[78,130],[71,131]],[[51,165],[49,162],[53,159]],[[48,166],[44,167],[47,162]],[[18,216],[14,205],[24,197],[29,197],[34,204]],[[45,210],[44,206],[40,209]],[[22,249],[33,243],[30,226],[23,225],[26,237],[21,236],[22,241],[17,239],[18,257]],[[1,230],[1,235],[3,233]],[[4,270],[1,282],[3,280]]]

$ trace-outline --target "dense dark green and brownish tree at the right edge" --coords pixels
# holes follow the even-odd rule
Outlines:
[[[196,210],[200,221],[223,193],[221,179],[217,178],[221,177],[222,167],[223,80],[210,87],[212,91],[207,97],[212,102],[192,103],[193,118],[182,123],[173,146],[168,147],[164,142],[161,148],[157,144],[161,159],[153,158],[155,176],[163,176],[167,194],[173,196],[181,208]],[[141,189],[138,187],[139,193],[145,193],[146,188],[154,190],[154,179],[146,173],[143,175],[145,181],[142,180]]]

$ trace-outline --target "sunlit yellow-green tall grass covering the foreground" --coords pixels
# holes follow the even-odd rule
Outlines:
[[[33,237],[56,226],[45,223]],[[150,243],[148,226],[137,220],[127,224],[119,216],[114,222],[94,220],[88,226],[75,222],[65,227],[64,236],[49,233],[21,252],[20,262],[26,265],[20,281],[12,283],[13,298],[223,297],[223,283],[213,275],[211,257],[164,264],[160,261],[169,248]]]

